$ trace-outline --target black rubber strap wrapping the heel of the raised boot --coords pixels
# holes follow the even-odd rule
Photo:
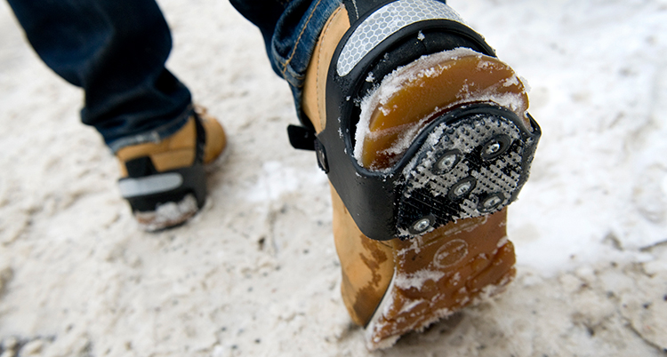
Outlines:
[[[348,12],[350,6],[356,5],[355,17],[356,13],[360,13],[361,19],[368,15],[367,9],[373,11],[383,4],[390,3],[387,0],[377,2],[356,0],[355,3],[351,0],[343,1]],[[358,6],[362,2],[365,6],[360,9]],[[394,206],[399,191],[397,179],[400,175],[397,173],[400,172],[402,165],[398,164],[391,172],[368,171],[360,167],[351,156],[359,111],[355,103],[363,99],[366,92],[371,89],[366,85],[367,74],[373,72],[377,83],[380,83],[390,70],[412,62],[422,55],[461,46],[472,47],[478,52],[493,55],[493,49],[486,44],[483,37],[461,23],[441,19],[420,21],[392,34],[369,52],[348,75],[341,77],[336,72],[337,60],[343,45],[360,23],[361,20],[351,22],[351,28],[343,36],[333,54],[326,83],[326,127],[317,134],[317,139],[323,147],[320,152],[323,157],[318,157],[318,161],[326,163],[329,180],[361,232],[374,240],[383,241],[398,235]],[[427,45],[417,39],[420,31],[440,32],[440,35],[427,36],[427,40],[431,37],[437,40]],[[341,138],[342,132],[346,135]],[[420,145],[414,145],[414,149]],[[409,153],[406,154],[406,157],[409,156]]]

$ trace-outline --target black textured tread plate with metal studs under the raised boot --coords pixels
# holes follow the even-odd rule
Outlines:
[[[401,172],[399,238],[502,210],[516,198],[535,143],[534,133],[510,118],[490,110],[432,127]]]

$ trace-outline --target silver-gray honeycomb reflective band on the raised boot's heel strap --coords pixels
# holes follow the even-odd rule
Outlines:
[[[366,18],[343,46],[336,64],[338,75],[348,75],[368,52],[399,29],[415,22],[434,19],[463,23],[461,16],[451,7],[436,0],[398,0],[386,4]]]

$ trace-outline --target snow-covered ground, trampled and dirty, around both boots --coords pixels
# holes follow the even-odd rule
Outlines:
[[[186,226],[136,229],[117,164],[0,3],[0,356],[667,353],[667,1],[450,0],[532,87],[542,142],[500,297],[368,353],[339,294],[328,184],[226,1],[161,0],[168,67],[229,131]]]

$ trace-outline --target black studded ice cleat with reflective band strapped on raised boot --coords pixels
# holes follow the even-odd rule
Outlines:
[[[419,3],[419,4],[417,4]],[[333,54],[317,161],[360,231],[409,239],[461,218],[502,210],[526,182],[541,131],[527,115],[472,103],[430,122],[390,170],[372,171],[354,152],[358,103],[394,69],[423,55],[470,48],[495,57],[484,38],[436,0],[345,0],[351,27]],[[344,134],[343,134],[344,133]],[[293,135],[291,135],[293,136]]]

